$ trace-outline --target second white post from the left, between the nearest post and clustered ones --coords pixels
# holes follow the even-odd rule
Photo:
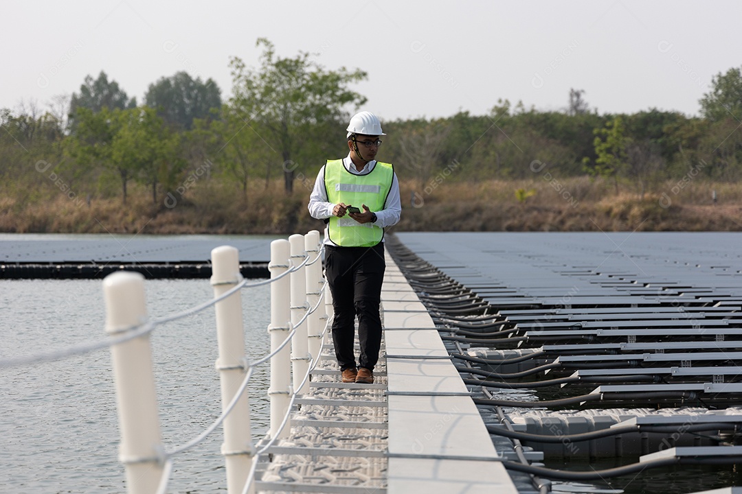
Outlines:
[[[211,250],[211,286],[214,297],[221,296],[242,281],[239,251],[222,246]],[[217,340],[219,370],[222,390],[222,410],[234,399],[235,393],[245,378],[247,359],[245,356],[245,332],[242,321],[242,298],[240,291],[218,301],[214,305],[217,316]],[[227,492],[241,493],[252,467],[252,438],[250,435],[250,404],[247,390],[238,398],[232,413],[223,422],[224,443],[222,454],[226,463]],[[254,490],[248,491],[253,493]]]

